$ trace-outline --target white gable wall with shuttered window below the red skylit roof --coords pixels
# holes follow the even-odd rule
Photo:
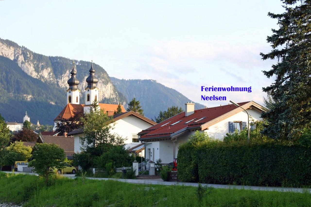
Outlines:
[[[254,121],[262,120],[262,118],[260,118],[261,113],[257,110],[247,109],[247,112],[250,115],[249,123],[252,122],[252,119],[254,119]],[[209,136],[215,137],[216,139],[223,139],[226,133],[229,132],[229,122],[241,121],[247,124],[247,120],[247,113],[242,111],[208,127],[208,130],[205,131]]]

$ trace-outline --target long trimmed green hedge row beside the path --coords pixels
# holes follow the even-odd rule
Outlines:
[[[271,143],[186,143],[178,151],[178,177],[182,182],[311,186],[311,150]]]

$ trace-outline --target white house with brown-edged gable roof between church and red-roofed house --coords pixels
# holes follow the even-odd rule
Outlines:
[[[113,129],[111,133],[116,133],[119,136],[125,138],[125,148],[134,149],[140,147],[141,142],[138,140],[138,132],[152,127],[156,122],[140,115],[139,113],[129,111],[114,115]],[[81,137],[84,136],[83,129],[77,129],[68,133],[68,136],[74,136],[74,152],[81,152]],[[144,155],[143,147],[137,149],[137,152],[142,151]],[[136,150],[135,150],[136,151]]]

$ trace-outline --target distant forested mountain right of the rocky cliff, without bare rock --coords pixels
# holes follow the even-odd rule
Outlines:
[[[155,80],[120,80],[114,77],[110,77],[110,79],[128,101],[134,97],[139,100],[142,109],[144,109],[144,115],[150,119],[158,116],[160,110],[166,111],[171,106],[184,109],[185,103],[191,101],[177,90],[166,87]],[[202,108],[205,106],[195,104],[196,110]]]

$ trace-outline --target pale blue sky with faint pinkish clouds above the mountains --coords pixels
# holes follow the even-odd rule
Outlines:
[[[207,107],[229,100],[263,103],[271,85],[262,61],[277,29],[268,12],[279,0],[252,1],[0,1],[0,38],[49,56],[95,62],[109,76],[153,79]],[[206,92],[205,87],[252,87]],[[226,96],[204,101],[201,95]]]

